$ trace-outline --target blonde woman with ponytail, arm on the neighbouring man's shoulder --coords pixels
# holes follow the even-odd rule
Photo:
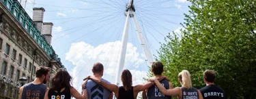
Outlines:
[[[178,99],[203,99],[201,92],[192,86],[190,73],[188,71],[184,70],[179,73],[178,79],[182,87],[175,87],[174,89],[169,90],[165,89],[165,87],[163,87],[155,78],[150,79],[150,81],[154,81],[154,83],[156,83],[156,86],[162,92],[162,94],[168,96],[177,96]]]

